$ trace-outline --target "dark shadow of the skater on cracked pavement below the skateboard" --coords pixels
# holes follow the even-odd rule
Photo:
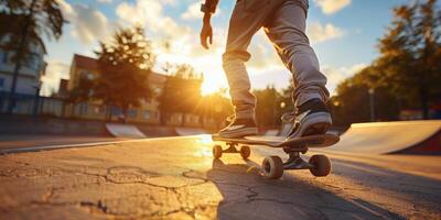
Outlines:
[[[404,219],[362,199],[345,199],[292,175],[265,179],[259,165],[224,164],[214,160],[207,178],[223,201],[218,219]]]

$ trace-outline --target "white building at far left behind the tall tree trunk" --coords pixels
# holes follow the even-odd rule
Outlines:
[[[15,87],[15,105],[13,113],[30,114],[33,111],[35,97],[40,92],[40,78],[44,74],[46,53],[43,42],[31,45],[30,58],[23,62],[19,70]],[[6,51],[0,47],[0,112],[7,110],[9,91],[12,87],[15,63],[12,61],[13,51]]]

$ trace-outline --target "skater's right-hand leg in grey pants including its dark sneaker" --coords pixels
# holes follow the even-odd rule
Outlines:
[[[293,123],[287,139],[322,134],[332,123],[325,106],[326,77],[305,34],[308,0],[287,0],[273,12],[265,31],[293,75],[297,111],[288,114]]]

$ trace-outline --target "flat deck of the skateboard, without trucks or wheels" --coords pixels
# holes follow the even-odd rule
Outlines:
[[[226,139],[218,135],[212,135],[213,141],[222,141],[233,144],[250,144],[250,145],[266,145],[270,147],[290,147],[290,148],[304,148],[304,147],[327,147],[340,141],[335,134],[310,135],[299,139],[286,141],[283,136],[245,136],[238,139]]]

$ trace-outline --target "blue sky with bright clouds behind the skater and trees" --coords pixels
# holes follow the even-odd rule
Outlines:
[[[135,24],[146,29],[157,55],[154,70],[162,73],[165,63],[190,64],[204,74],[203,94],[227,88],[222,69],[229,15],[235,0],[220,0],[212,19],[214,44],[209,51],[200,45],[202,1],[194,0],[58,0],[69,22],[58,41],[46,41],[46,75],[43,95],[57,90],[61,78],[68,79],[74,54],[95,57],[98,42]],[[390,24],[392,8],[406,0],[310,0],[306,34],[318,54],[321,70],[327,76],[327,87],[369,65],[378,55],[376,45]],[[169,45],[169,46],[165,46]],[[248,50],[247,63],[254,89],[272,85],[278,89],[289,85],[291,73],[286,69],[271,43],[259,31]]]

